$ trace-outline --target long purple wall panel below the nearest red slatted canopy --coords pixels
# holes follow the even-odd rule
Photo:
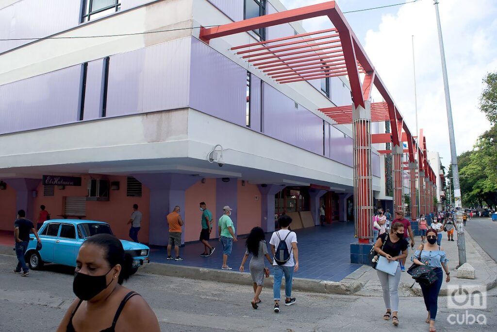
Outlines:
[[[264,84],[264,133],[323,155],[323,120]]]

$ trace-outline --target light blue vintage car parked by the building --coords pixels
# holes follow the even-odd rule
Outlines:
[[[112,234],[110,225],[103,221],[78,219],[56,219],[43,223],[38,231],[42,248],[36,250],[36,238],[31,235],[25,253],[26,262],[33,270],[40,269],[44,263],[76,266],[76,257],[84,240],[95,234]],[[133,271],[149,262],[150,248],[145,244],[120,240],[124,250],[133,257]]]

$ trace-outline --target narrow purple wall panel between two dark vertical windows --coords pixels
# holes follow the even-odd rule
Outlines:
[[[104,59],[88,62],[84,92],[83,120],[93,120],[102,115],[104,84]]]

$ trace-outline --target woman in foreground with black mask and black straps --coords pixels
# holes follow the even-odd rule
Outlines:
[[[80,247],[73,281],[77,299],[57,332],[159,332],[159,321],[147,302],[122,286],[133,269],[133,258],[119,239],[96,234]]]

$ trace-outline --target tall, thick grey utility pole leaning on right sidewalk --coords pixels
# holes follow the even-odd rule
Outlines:
[[[452,164],[452,185],[454,186],[454,205],[461,208],[461,187],[459,185],[459,169],[457,167],[456,140],[454,138],[454,124],[452,122],[452,106],[450,104],[449,79],[447,77],[447,65],[445,63],[445,51],[443,48],[442,26],[440,24],[440,13],[438,11],[438,0],[433,0],[435,5],[436,22],[438,28],[438,43],[440,46],[440,58],[442,60],[443,87],[445,90],[445,105],[447,107],[447,122],[449,124],[450,155]],[[461,222],[459,222],[459,219]],[[466,263],[466,241],[464,240],[464,227],[462,218],[456,218],[457,225],[457,247],[459,249],[459,266]],[[458,272],[459,274],[459,272]]]

